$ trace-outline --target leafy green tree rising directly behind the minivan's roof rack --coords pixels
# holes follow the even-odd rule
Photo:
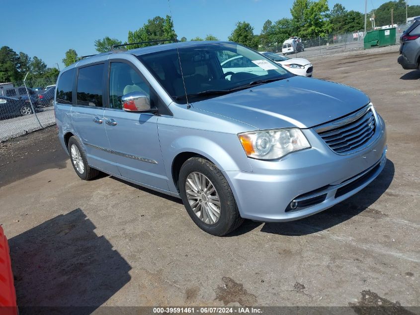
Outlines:
[[[169,15],[166,18],[155,16],[135,31],[128,31],[128,42],[137,43],[152,40],[174,39],[177,35],[173,29],[173,22]],[[132,45],[130,48],[140,48],[157,45],[158,43]]]

